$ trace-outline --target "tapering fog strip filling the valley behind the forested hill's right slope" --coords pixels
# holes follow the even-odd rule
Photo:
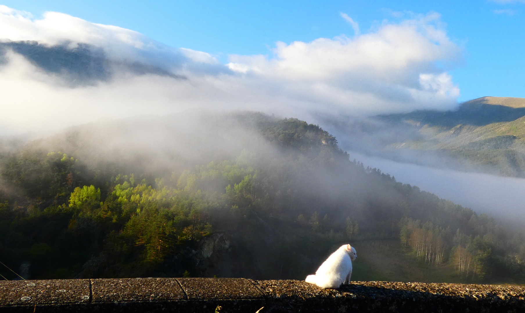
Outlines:
[[[403,184],[418,186],[478,213],[487,213],[514,223],[525,221],[525,179],[437,169],[352,151],[348,153],[350,159],[363,162],[365,167],[379,168]]]

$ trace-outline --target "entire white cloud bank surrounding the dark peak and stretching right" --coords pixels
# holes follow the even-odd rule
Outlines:
[[[226,65],[208,53],[167,47],[129,29],[54,12],[34,19],[5,6],[0,6],[0,38],[85,42],[110,58],[151,63],[187,78],[122,75],[95,86],[60,87],[55,76],[10,53],[0,67],[0,133],[192,108],[257,110],[314,122],[316,112],[451,109],[459,95],[437,62],[461,59],[461,49],[437,14],[384,23],[352,38],[277,42],[269,57],[233,55]]]

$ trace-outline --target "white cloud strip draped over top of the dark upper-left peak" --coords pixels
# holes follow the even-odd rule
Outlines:
[[[70,42],[72,47],[80,42],[103,48],[114,60],[151,63],[172,72],[218,64],[205,52],[172,48],[134,30],[90,23],[64,13],[46,12],[35,19],[29,13],[0,6],[0,26],[0,40],[35,40],[49,46]]]

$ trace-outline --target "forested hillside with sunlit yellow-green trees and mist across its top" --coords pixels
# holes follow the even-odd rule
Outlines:
[[[394,259],[371,247],[386,242],[396,262],[448,273],[439,280],[525,279],[523,233],[364,168],[295,118],[93,123],[1,162],[0,261],[31,278],[304,279],[348,242],[354,277],[377,278]]]

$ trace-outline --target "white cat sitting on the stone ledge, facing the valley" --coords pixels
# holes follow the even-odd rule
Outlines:
[[[321,288],[348,285],[352,276],[352,261],[357,257],[354,247],[349,244],[342,245],[319,266],[316,275],[308,275],[305,280]]]

